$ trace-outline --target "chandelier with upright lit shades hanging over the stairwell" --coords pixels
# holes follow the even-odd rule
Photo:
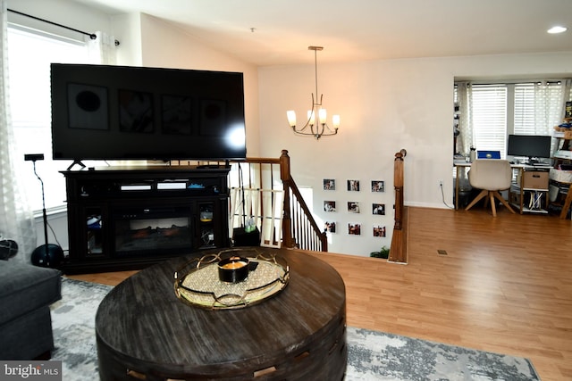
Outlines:
[[[332,128],[326,123],[326,111],[322,108],[322,98],[324,95],[320,95],[318,98],[318,50],[324,50],[324,46],[308,46],[308,50],[314,51],[314,65],[315,65],[315,97],[312,93],[312,109],[307,112],[307,122],[302,128],[296,128],[296,112],[290,110],[286,112],[288,117],[288,123],[298,135],[306,135],[310,137],[315,137],[319,139],[320,137],[327,137],[330,135],[336,135],[338,133],[338,128],[340,128],[340,115],[332,116]],[[319,102],[318,102],[319,101]],[[316,123],[317,116],[317,123]]]

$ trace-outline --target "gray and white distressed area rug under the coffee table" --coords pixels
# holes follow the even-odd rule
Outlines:
[[[113,287],[63,278],[52,305],[55,351],[64,381],[98,380],[95,316]],[[348,327],[346,380],[540,380],[529,360]]]

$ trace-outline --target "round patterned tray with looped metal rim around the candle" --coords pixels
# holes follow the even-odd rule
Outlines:
[[[218,262],[231,256],[246,257],[257,268],[242,282],[222,282]],[[256,248],[231,249],[187,262],[175,271],[174,279],[175,294],[182,302],[208,310],[238,309],[280,293],[288,285],[290,269],[282,257],[259,253]]]

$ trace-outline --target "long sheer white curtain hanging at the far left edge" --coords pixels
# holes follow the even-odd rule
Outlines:
[[[0,0],[0,235],[16,241],[18,255],[11,261],[30,261],[36,248],[34,216],[20,190],[13,153],[14,137],[8,99],[8,17],[7,4]]]

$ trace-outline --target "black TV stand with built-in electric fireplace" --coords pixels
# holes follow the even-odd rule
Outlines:
[[[62,171],[70,254],[65,273],[142,269],[230,246],[228,167],[104,167]]]

